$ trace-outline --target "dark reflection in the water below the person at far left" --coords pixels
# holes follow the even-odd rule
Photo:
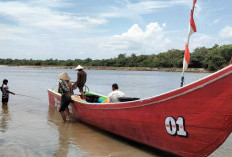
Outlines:
[[[10,113],[8,110],[8,105],[2,104],[2,112],[1,112],[1,123],[0,123],[0,131],[5,133],[8,129],[8,121],[10,120]]]

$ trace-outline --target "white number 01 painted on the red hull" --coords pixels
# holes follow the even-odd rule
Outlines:
[[[184,118],[178,117],[177,121],[175,121],[172,117],[167,117],[165,119],[165,128],[170,135],[178,135],[178,136],[187,136],[187,132],[185,131]]]

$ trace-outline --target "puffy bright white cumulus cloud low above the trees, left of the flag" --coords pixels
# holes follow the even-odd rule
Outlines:
[[[103,46],[121,53],[161,52],[166,50],[171,42],[164,34],[163,27],[158,23],[148,24],[145,31],[134,24],[127,32],[111,37]]]

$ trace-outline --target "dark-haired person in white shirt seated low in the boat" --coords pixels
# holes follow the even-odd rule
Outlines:
[[[119,102],[118,97],[125,97],[125,94],[118,90],[118,84],[117,83],[114,83],[112,85],[112,90],[113,90],[113,92],[111,92],[109,94],[109,96],[108,96],[108,103]]]

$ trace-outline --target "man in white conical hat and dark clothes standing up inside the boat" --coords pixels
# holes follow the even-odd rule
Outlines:
[[[86,72],[83,70],[84,68],[80,65],[78,65],[74,70],[78,70],[77,72],[77,81],[74,83],[74,87],[75,89],[78,87],[79,88],[79,92],[81,93],[81,98],[84,99],[84,92],[83,92],[83,88],[87,79],[87,74]]]

